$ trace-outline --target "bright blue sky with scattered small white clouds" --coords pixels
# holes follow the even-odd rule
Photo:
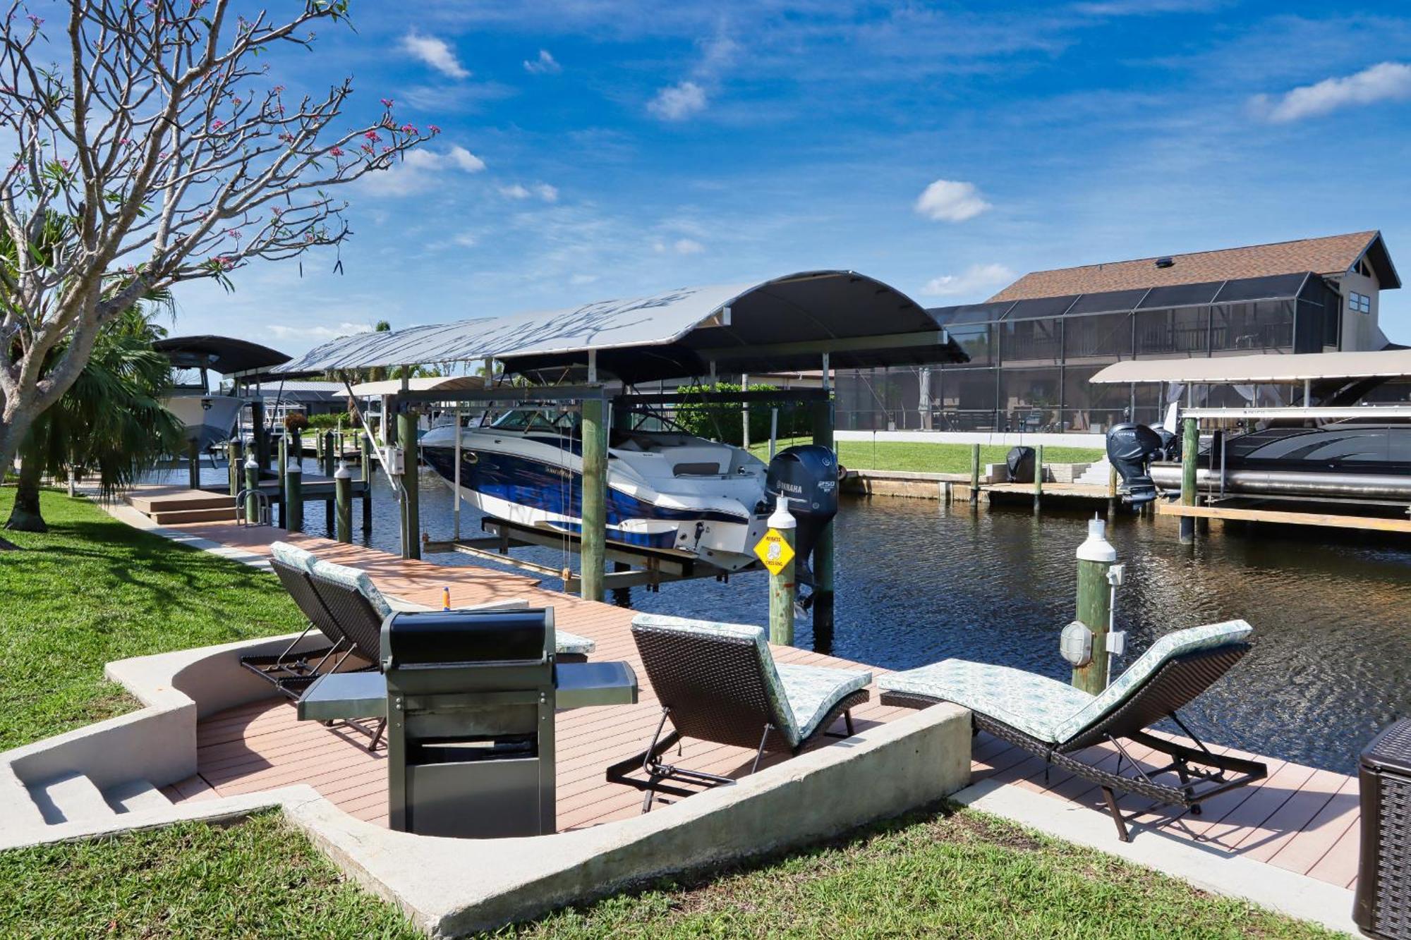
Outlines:
[[[278,4],[275,4],[278,6]],[[271,61],[443,130],[350,186],[334,255],[176,292],[298,353],[854,268],[928,306],[1029,270],[1381,229],[1411,275],[1411,6],[1088,0],[353,4]],[[1383,295],[1411,342],[1411,289]]]

